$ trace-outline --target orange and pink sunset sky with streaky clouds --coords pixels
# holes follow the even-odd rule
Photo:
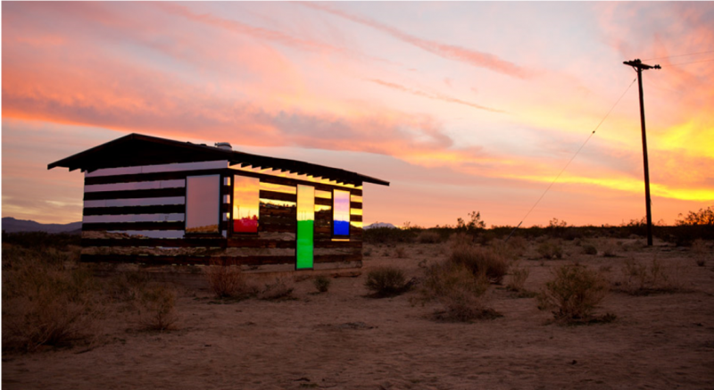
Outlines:
[[[357,171],[365,224],[714,205],[714,3],[2,4],[2,214],[81,220],[47,164],[142,133]],[[627,92],[626,92],[627,91]]]

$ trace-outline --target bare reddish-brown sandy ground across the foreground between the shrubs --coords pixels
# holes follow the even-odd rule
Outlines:
[[[625,240],[627,241],[627,240]],[[627,242],[625,243],[627,245]],[[495,286],[490,305],[502,318],[473,323],[432,319],[436,303],[412,305],[410,292],[371,299],[365,275],[380,265],[419,277],[420,261],[444,259],[445,244],[367,245],[358,278],[335,278],[326,294],[311,280],[295,299],[217,303],[207,290],[181,288],[179,329],[140,329],[136,313],[115,310],[85,347],[3,355],[7,389],[348,388],[348,389],[714,389],[714,258],[700,267],[691,251],[655,246],[605,258],[568,244],[563,260],[519,264],[536,291],[552,267],[580,261],[620,278],[623,261],[657,258],[677,266],[685,288],[646,296],[611,292],[600,312],[608,324],[563,327],[535,298]],[[422,263],[423,264],[423,263]],[[674,270],[674,268],[671,268]],[[506,279],[508,281],[508,277]]]

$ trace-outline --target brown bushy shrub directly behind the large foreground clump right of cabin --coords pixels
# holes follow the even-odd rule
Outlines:
[[[508,273],[508,259],[502,254],[494,252],[492,248],[455,245],[452,247],[449,261],[463,264],[474,275],[483,274],[495,284],[501,284],[503,277]]]

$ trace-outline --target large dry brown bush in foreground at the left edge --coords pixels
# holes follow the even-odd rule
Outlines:
[[[87,269],[43,261],[42,251],[15,259],[3,270],[3,348],[33,351],[92,336],[101,316],[96,290]]]

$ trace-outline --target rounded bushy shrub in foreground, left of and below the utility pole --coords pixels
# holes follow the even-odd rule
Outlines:
[[[601,274],[583,266],[563,265],[554,270],[538,295],[541,309],[553,308],[555,319],[578,322],[592,319],[595,307],[608,293],[608,282]]]

